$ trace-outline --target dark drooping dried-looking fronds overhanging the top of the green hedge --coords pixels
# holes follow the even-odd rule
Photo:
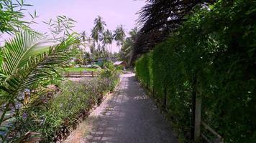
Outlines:
[[[147,4],[138,12],[140,31],[134,43],[132,61],[178,29],[194,6],[207,5],[214,1],[216,0],[147,0]]]

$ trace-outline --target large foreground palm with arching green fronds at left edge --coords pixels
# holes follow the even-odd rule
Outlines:
[[[56,67],[68,61],[69,47],[77,42],[76,34],[55,43],[29,29],[6,41],[0,49],[0,132],[4,129],[3,122],[9,119],[6,112],[19,108],[19,95],[33,84],[52,78]],[[0,137],[5,138],[1,134]]]

